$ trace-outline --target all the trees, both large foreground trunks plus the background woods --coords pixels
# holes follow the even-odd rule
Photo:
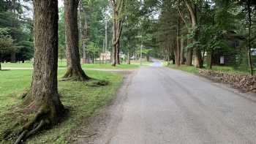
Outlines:
[[[0,71],[5,64],[34,67],[15,111],[24,116],[0,131],[0,142],[21,143],[68,115],[58,92],[59,61],[61,81],[105,86],[83,64],[127,67],[151,58],[254,75],[256,1],[0,0]]]

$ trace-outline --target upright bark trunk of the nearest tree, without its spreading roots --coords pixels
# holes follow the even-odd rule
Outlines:
[[[58,94],[58,1],[34,0],[34,73],[31,96],[37,110],[48,107],[50,121],[64,110]]]

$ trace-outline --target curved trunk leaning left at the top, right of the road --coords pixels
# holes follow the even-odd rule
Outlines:
[[[192,28],[195,30],[194,42],[197,42],[198,35],[199,35],[199,31],[197,29],[197,6],[195,4],[189,4],[187,1],[186,1],[186,4],[192,20]],[[195,53],[195,67],[203,68],[202,54],[198,46],[195,46],[194,53]]]

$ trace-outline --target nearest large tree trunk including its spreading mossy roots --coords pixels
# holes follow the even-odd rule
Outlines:
[[[45,125],[57,124],[64,114],[57,88],[58,1],[34,0],[33,4],[34,72],[31,90],[24,96],[23,105],[24,111],[29,111],[30,116],[34,113],[34,118],[20,129],[20,136],[15,143],[26,140]]]

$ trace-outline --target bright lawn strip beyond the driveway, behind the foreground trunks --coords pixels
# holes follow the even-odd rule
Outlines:
[[[150,66],[151,62],[143,61],[143,66]],[[32,68],[31,61],[25,63],[2,63],[3,68]],[[59,68],[67,67],[66,61],[59,61]],[[82,64],[83,69],[135,69],[140,67],[139,61],[131,61],[131,64],[118,64],[112,67],[111,64]]]

